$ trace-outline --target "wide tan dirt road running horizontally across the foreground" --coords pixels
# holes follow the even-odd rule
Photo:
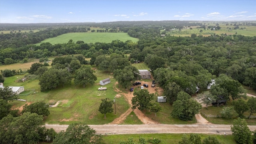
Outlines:
[[[46,128],[54,128],[56,132],[66,130],[68,125],[46,124]],[[98,134],[232,134],[230,125],[224,124],[141,124],[141,125],[88,125],[96,130]],[[250,130],[255,130],[256,126],[248,126]]]

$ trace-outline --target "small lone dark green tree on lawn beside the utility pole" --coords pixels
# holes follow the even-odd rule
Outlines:
[[[114,111],[114,108],[112,108],[114,101],[108,101],[108,98],[102,99],[101,101],[102,102],[100,103],[99,112],[104,114],[104,118],[106,118],[106,113],[111,113]]]

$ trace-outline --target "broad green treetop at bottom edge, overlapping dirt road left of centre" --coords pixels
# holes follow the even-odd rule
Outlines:
[[[52,144],[102,144],[102,136],[86,124],[74,123],[59,132]]]

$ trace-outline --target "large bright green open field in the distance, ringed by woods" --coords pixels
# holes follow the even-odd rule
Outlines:
[[[77,42],[78,40],[80,40],[84,41],[85,43],[110,43],[112,42],[112,40],[121,40],[123,42],[125,42],[126,40],[132,40],[132,42],[138,41],[138,38],[130,37],[127,33],[124,32],[79,32],[62,34],[55,38],[48,38],[36,45],[40,45],[43,42],[50,42],[51,44],[63,44],[68,43],[70,39],[72,39],[73,42]]]

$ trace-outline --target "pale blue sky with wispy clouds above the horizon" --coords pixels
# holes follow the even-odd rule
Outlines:
[[[0,23],[256,20],[256,0],[0,0]]]

